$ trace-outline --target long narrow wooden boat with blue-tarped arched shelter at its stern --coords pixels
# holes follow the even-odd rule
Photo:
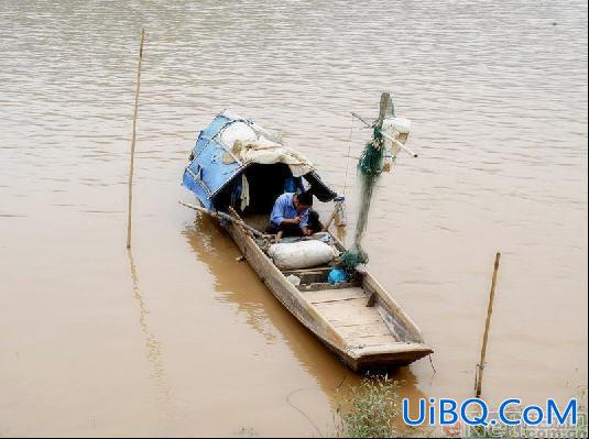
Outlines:
[[[328,274],[336,261],[301,270],[274,264],[268,255],[272,237],[264,234],[264,226],[276,197],[299,188],[324,202],[340,198],[310,162],[261,127],[228,111],[218,114],[199,133],[183,184],[196,194],[198,210],[220,219],[284,307],[349,367],[406,365],[433,352],[413,320],[367,271],[356,270],[347,282],[332,285]],[[323,240],[336,253],[346,250],[330,232]]]

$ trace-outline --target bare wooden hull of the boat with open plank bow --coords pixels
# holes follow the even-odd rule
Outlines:
[[[423,342],[416,325],[369,273],[363,275],[361,287],[349,288],[349,298],[329,300],[326,295],[332,295],[337,289],[326,290],[325,294],[297,289],[241,227],[228,223],[225,228],[272,294],[353,371],[403,366],[433,352]],[[321,294],[323,298],[313,299]],[[358,308],[358,303],[362,300],[362,306]],[[373,305],[363,305],[370,300]],[[381,316],[382,323],[379,323],[374,312]],[[366,319],[366,323],[362,319]],[[402,333],[404,337],[386,338],[382,329],[379,334],[350,332],[370,330],[379,325],[386,326],[391,333]]]

